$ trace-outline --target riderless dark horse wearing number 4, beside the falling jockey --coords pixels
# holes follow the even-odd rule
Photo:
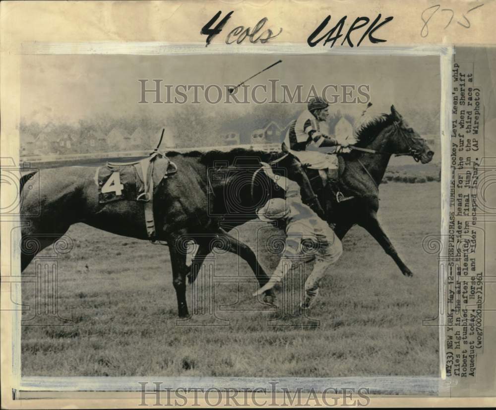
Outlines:
[[[222,213],[233,214],[236,210],[237,214],[242,215],[236,224],[241,225],[254,219],[257,208],[268,198],[284,195],[281,189],[277,189],[277,184],[264,174],[254,176],[259,168],[259,154],[273,157],[272,154],[238,150],[230,154],[233,158],[231,162],[237,164],[225,167],[224,162],[217,164],[216,158],[222,155],[218,151],[171,152],[169,157],[178,172],[166,179],[161,176],[165,175],[168,161],[164,158],[155,160],[153,212],[156,235],[153,239],[168,243],[181,317],[188,316],[186,275],[189,268],[186,266],[185,248],[188,239],[199,244],[209,242],[217,248],[240,255],[255,272],[260,287],[269,279],[253,251],[219,225]],[[238,160],[234,161],[235,158]],[[38,252],[54,244],[75,223],[82,222],[114,234],[149,239],[142,203],[119,200],[100,204],[96,173],[97,167],[62,167],[41,170],[21,178],[20,209],[24,222],[22,271]],[[222,180],[219,179],[221,174]],[[29,179],[39,189],[23,189]],[[222,189],[216,189],[214,194],[213,186]],[[264,301],[271,303],[272,295],[272,292],[266,292]]]

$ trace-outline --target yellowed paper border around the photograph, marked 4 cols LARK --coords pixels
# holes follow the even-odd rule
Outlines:
[[[453,20],[448,27],[443,28],[448,17],[436,14],[429,23],[429,35],[421,35],[423,22],[422,12],[435,4],[441,4],[444,9],[453,11]],[[85,1],[85,2],[55,2],[55,1],[3,1],[0,3],[0,85],[1,85],[1,138],[0,149],[2,166],[7,158],[18,163],[19,138],[19,83],[21,55],[29,51],[33,42],[36,43],[67,43],[58,46],[64,53],[70,54],[71,50],[78,50],[81,43],[107,42],[109,49],[118,52],[123,50],[123,42],[162,42],[162,43],[196,43],[204,44],[205,36],[200,35],[201,27],[218,11],[234,10],[232,21],[224,28],[222,34],[212,41],[211,47],[222,44],[225,33],[237,25],[253,26],[262,17],[268,17],[268,27],[276,32],[283,28],[283,33],[271,43],[298,43],[306,44],[308,35],[320,24],[322,19],[332,16],[362,16],[367,15],[373,19],[377,13],[382,16],[394,16],[394,20],[377,32],[379,38],[387,39],[385,43],[372,45],[373,47],[392,46],[429,46],[429,45],[490,45],[495,43],[494,16],[496,4],[487,1],[483,8],[474,10],[466,17],[470,20],[469,27],[463,17],[467,10],[478,5],[476,1],[408,1],[397,2],[383,1]],[[334,18],[334,17],[333,17]],[[350,17],[351,18],[351,17]],[[334,21],[334,20],[333,20]],[[463,23],[463,25],[462,25]],[[379,34],[380,33],[380,34]],[[425,34],[425,32],[424,32]],[[338,43],[339,44],[339,43]],[[339,48],[341,46],[335,46]],[[232,45],[233,52],[242,49],[251,52],[259,45],[244,44]],[[364,46],[371,46],[364,42]],[[132,45],[128,45],[131,47]],[[315,48],[323,49],[319,44]],[[131,52],[132,53],[132,52]],[[492,61],[493,68],[494,60]],[[492,84],[496,72],[492,70]],[[496,153],[495,139],[486,133],[486,153]],[[2,204],[10,203],[15,193],[2,185]],[[2,220],[1,226],[1,271],[14,272],[19,267],[10,266],[10,229],[8,221]],[[495,237],[487,236],[487,240],[494,243]],[[494,249],[494,246],[493,246]],[[489,268],[491,265],[488,266]],[[494,264],[492,265],[494,268]],[[14,269],[13,269],[14,268]],[[494,291],[494,289],[493,289]],[[34,403],[20,403],[12,401],[11,394],[11,337],[12,326],[10,306],[10,285],[1,285],[1,401],[5,408],[60,408],[71,407],[94,408],[104,404],[108,407],[135,407],[136,399],[124,400],[126,395],[113,394],[114,399],[102,401],[71,400],[60,401],[37,400]],[[486,317],[487,346],[494,346],[496,318]],[[488,362],[494,360],[491,350],[486,351]],[[485,354],[485,356],[486,356]],[[481,357],[482,362],[486,357]],[[494,381],[494,364],[478,368],[480,372],[489,372],[488,380]],[[484,376],[481,374],[481,378]],[[485,386],[485,391],[480,392],[486,399],[398,399],[398,398],[373,398],[374,406],[488,406],[494,404],[489,396],[494,396],[494,385]],[[491,392],[492,390],[492,392]],[[477,395],[476,390],[467,391],[468,395]],[[81,394],[84,399],[88,395]],[[128,396],[127,396],[128,397]],[[136,397],[136,396],[134,396]]]

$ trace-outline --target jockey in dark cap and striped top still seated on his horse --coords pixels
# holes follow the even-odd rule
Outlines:
[[[320,147],[346,148],[346,142],[338,143],[334,138],[327,135],[327,118],[329,117],[329,104],[321,97],[312,98],[305,110],[295,121],[293,121],[283,142],[283,151],[293,154],[294,161],[289,170],[289,178],[297,181],[302,187],[302,199],[308,203],[310,208],[322,219],[326,214],[322,210],[310,180],[302,170],[302,164],[308,168],[317,170],[322,186],[328,185],[329,190],[338,202],[346,199],[339,190],[338,158],[336,155],[319,152]],[[328,150],[327,150],[328,152]],[[302,175],[303,174],[303,180]]]

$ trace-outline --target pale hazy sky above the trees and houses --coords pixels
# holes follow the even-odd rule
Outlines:
[[[77,122],[96,114],[171,115],[179,104],[138,104],[138,79],[163,79],[162,84],[238,84],[257,71],[283,62],[248,83],[279,79],[293,89],[303,84],[321,90],[327,84],[369,84],[372,103],[388,110],[394,104],[407,118],[409,107],[439,111],[438,57],[364,56],[25,56],[21,72],[21,117],[31,122]],[[148,82],[152,87],[153,82]],[[278,89],[280,92],[281,90]],[[163,88],[165,93],[165,88]],[[304,92],[304,94],[305,94]],[[189,95],[192,96],[192,91]],[[215,97],[216,92],[212,91]],[[150,95],[149,101],[153,101]],[[165,99],[165,95],[163,97]],[[202,99],[200,99],[202,101]],[[210,105],[208,112],[248,113],[239,104]],[[356,115],[363,106],[336,106]]]

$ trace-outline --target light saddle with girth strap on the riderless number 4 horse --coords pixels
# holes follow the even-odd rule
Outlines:
[[[158,174],[155,173],[154,175],[155,160],[157,158],[164,158],[167,162],[164,167],[160,167],[161,169],[157,170]],[[106,168],[110,173],[119,172],[119,175],[121,174],[124,175],[124,178],[126,178],[125,177],[126,174],[127,175],[133,174],[134,176],[137,176],[137,178],[135,178],[134,181],[135,189],[128,189],[127,194],[124,193],[122,198],[116,198],[116,199],[136,200],[144,203],[146,232],[150,239],[154,238],[155,220],[153,217],[153,193],[156,186],[154,184],[154,177],[158,185],[158,182],[160,180],[165,179],[168,176],[175,174],[178,171],[178,167],[176,166],[176,164],[174,164],[171,160],[169,160],[165,154],[159,152],[158,150],[155,150],[150,154],[149,157],[143,158],[138,161],[108,162],[106,164]],[[132,173],[129,172],[131,169],[133,169]],[[129,181],[130,179],[132,179],[130,176],[126,178],[127,181]],[[126,189],[126,185],[125,185],[126,180],[124,180],[124,185],[123,185],[124,189]],[[100,187],[102,187],[103,185],[102,182],[103,181],[100,181],[99,183]],[[127,183],[129,185],[132,185],[132,182],[127,182]],[[111,198],[105,201],[100,200],[100,203],[108,202],[110,200],[113,199]]]

